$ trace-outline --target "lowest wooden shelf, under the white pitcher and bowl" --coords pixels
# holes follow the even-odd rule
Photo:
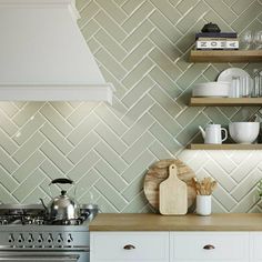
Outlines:
[[[239,144],[239,143],[223,143],[223,144],[205,144],[191,143],[187,147],[192,150],[262,150],[262,144]]]

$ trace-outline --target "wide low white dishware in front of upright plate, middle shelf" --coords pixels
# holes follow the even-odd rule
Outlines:
[[[230,82],[196,83],[193,87],[193,97],[229,97]]]

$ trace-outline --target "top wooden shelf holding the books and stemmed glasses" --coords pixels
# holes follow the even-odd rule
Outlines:
[[[262,50],[191,50],[190,62],[262,62]]]

